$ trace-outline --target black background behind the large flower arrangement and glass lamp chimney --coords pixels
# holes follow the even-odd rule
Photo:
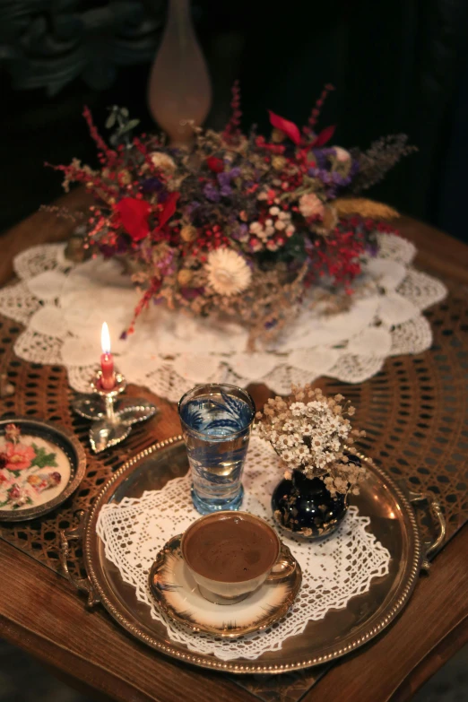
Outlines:
[[[0,231],[61,194],[43,163],[94,162],[82,106],[102,126],[119,104],[153,127],[146,84],[164,0],[0,0]],[[466,0],[194,0],[212,76],[207,126],[229,116],[239,78],[243,122],[268,131],[267,108],[300,124],[325,82],[320,126],[367,147],[404,132],[419,152],[369,195],[468,239]]]

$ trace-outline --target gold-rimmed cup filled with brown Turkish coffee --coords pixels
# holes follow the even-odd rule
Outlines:
[[[217,604],[240,602],[265,581],[286,579],[297,565],[272,527],[247,512],[200,517],[180,548],[200,593]]]

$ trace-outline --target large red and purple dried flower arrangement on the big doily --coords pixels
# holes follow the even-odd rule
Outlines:
[[[195,142],[185,149],[164,136],[132,138],[138,121],[117,107],[106,124],[115,130],[108,146],[84,110],[101,168],[76,159],[55,168],[65,189],[78,182],[94,195],[86,246],[125,258],[142,289],[134,318],[151,300],[165,300],[195,315],[235,316],[254,345],[279,332],[320,276],[351,291],[360,257],[376,248],[375,231],[390,229],[377,220],[397,214],[352,194],[412,148],[404,135],[368,152],[326,146],[334,126],[318,134],[315,127],[332,87],[301,131],[270,112],[267,140],[255,128],[241,133],[235,84],[224,131],[194,127]]]

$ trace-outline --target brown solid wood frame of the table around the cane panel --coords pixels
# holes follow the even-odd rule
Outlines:
[[[80,209],[75,191],[65,204]],[[468,283],[468,247],[433,228],[403,218],[403,236],[419,248],[417,265],[451,281]],[[24,248],[59,241],[69,222],[39,212],[1,238],[0,284],[13,273],[13,256]],[[256,388],[258,396],[265,390]],[[160,436],[178,432],[175,412],[160,423]],[[455,535],[421,576],[411,602],[381,637],[335,663],[303,689],[270,682],[243,687],[243,680],[176,663],[134,641],[100,609],[86,611],[82,597],[56,575],[11,544],[0,541],[0,633],[91,697],[132,702],[384,702],[406,700],[468,641],[468,527]],[[321,674],[323,673],[323,674]],[[320,677],[321,675],[321,677]],[[315,684],[312,683],[315,681]]]

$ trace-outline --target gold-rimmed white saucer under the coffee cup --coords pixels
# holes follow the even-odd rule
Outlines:
[[[299,563],[285,580],[264,583],[242,602],[208,602],[182,558],[181,539],[178,534],[166,543],[149,576],[150,591],[160,609],[178,623],[216,637],[242,637],[281,620],[296,599],[302,581]],[[282,544],[282,551],[289,549]]]

